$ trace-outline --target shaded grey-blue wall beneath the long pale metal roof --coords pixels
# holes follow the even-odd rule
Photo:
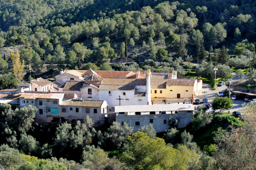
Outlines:
[[[179,113],[174,114],[156,114],[156,115],[116,115],[116,122],[122,125],[122,122],[126,122],[129,126],[134,127],[133,132],[137,132],[144,125],[152,124],[156,132],[164,132],[170,128],[168,123],[169,117],[172,116],[173,119],[178,120],[178,127],[186,127],[193,119],[193,111],[187,113],[187,111],[179,111]],[[150,119],[153,119],[153,123],[150,123]],[[164,124],[166,120],[166,124]],[[140,122],[139,126],[135,125],[135,122]]]

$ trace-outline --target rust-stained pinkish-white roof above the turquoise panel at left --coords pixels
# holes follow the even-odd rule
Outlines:
[[[60,99],[64,93],[23,93],[20,97],[24,99]]]

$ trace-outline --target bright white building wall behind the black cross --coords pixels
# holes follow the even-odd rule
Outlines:
[[[134,96],[134,91],[111,91],[111,95],[109,95],[109,91],[106,91],[106,90],[99,91],[99,100],[108,101],[109,107],[119,106],[119,100],[118,100],[119,96],[121,99],[123,99],[123,100],[120,100],[121,106],[122,105],[147,105],[148,103],[148,99],[146,96],[136,97]]]

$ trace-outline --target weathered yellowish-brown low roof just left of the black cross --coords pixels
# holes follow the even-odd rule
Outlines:
[[[70,99],[63,101],[61,106],[80,106],[80,107],[101,107],[104,101],[93,101],[93,100],[75,100]]]

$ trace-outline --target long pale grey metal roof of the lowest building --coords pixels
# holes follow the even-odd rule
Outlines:
[[[115,106],[115,113],[118,113],[118,112],[154,112],[154,111],[194,111],[194,107],[192,104]]]

